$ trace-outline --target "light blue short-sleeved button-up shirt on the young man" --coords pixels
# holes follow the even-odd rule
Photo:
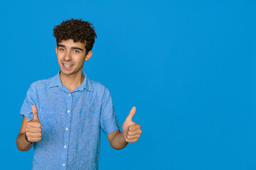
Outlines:
[[[77,89],[68,91],[60,73],[36,81],[28,89],[21,115],[32,119],[38,108],[42,140],[33,144],[32,169],[98,169],[100,129],[118,130],[109,89],[85,77]]]

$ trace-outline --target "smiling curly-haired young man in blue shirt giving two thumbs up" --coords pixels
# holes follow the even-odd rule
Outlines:
[[[114,149],[137,142],[142,130],[132,121],[136,108],[120,132],[109,89],[82,72],[97,37],[91,23],[63,21],[53,35],[60,72],[28,89],[17,147],[27,151],[33,146],[32,169],[98,169],[100,129]]]

